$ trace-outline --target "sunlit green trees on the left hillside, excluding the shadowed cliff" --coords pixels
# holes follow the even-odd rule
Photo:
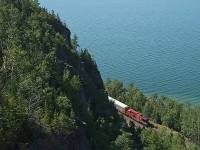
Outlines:
[[[73,55],[55,26],[65,27],[38,1],[1,1],[0,12],[1,148],[19,149],[43,134],[69,135],[81,82],[63,77],[57,57],[59,49]]]

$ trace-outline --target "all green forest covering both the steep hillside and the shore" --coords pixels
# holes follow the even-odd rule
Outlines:
[[[108,94],[177,131],[128,126]],[[78,37],[37,0],[0,0],[0,149],[199,149],[200,107],[103,83]]]

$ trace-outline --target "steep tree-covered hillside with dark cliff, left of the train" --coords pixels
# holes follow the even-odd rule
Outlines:
[[[2,149],[108,149],[117,137],[120,118],[97,65],[77,46],[37,1],[1,0]]]

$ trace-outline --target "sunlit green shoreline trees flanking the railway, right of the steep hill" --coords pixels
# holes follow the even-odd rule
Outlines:
[[[161,132],[142,130],[140,137],[144,149],[187,149],[188,141],[200,146],[200,106],[192,107],[189,102],[158,97],[156,93],[146,97],[133,83],[124,87],[123,82],[110,78],[105,81],[105,87],[110,96],[138,110],[152,122],[169,128]],[[195,146],[189,149],[193,148],[199,149]]]

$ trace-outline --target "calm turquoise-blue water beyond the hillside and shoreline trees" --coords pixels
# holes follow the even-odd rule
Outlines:
[[[199,0],[39,0],[88,48],[103,79],[200,104]]]

